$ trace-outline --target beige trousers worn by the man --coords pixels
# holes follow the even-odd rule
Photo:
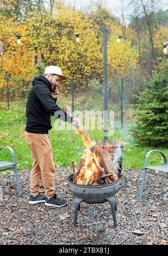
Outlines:
[[[30,176],[31,194],[39,194],[40,181],[42,180],[45,195],[52,198],[54,194],[55,164],[49,136],[48,134],[33,134],[25,131],[25,138],[33,159]]]

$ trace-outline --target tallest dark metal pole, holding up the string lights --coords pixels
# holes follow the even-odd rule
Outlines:
[[[108,30],[103,29],[103,61],[104,61],[104,140],[108,140]]]

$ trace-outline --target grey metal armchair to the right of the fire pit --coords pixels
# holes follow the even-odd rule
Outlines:
[[[150,154],[152,152],[158,152],[158,153],[162,154],[162,157],[164,158],[164,161],[165,161],[164,166],[147,166],[148,157],[150,156]],[[160,171],[160,172],[166,172],[166,174],[163,174],[163,173],[160,173],[160,172],[147,171],[147,169]],[[142,181],[141,181],[141,189],[139,191],[139,198],[138,198],[139,201],[141,201],[141,199],[142,199],[143,186],[144,186],[144,180],[145,180],[145,177],[146,177],[146,173],[150,173],[150,174],[153,174],[153,175],[158,175],[158,176],[163,176],[163,177],[168,178],[168,162],[167,162],[167,159],[166,159],[164,153],[162,153],[159,150],[150,150],[146,154],[146,158],[145,158],[145,161],[144,161],[144,168],[143,168],[143,176],[142,176]]]

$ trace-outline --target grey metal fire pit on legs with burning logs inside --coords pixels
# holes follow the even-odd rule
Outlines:
[[[115,214],[116,212],[115,194],[120,189],[120,185],[122,185],[122,178],[121,178],[120,172],[122,171],[123,145],[119,143],[114,144],[114,141],[108,141],[108,143],[107,141],[99,141],[98,145],[100,146],[100,144],[101,144],[101,149],[103,150],[102,154],[105,153],[105,158],[106,157],[108,158],[108,161],[107,161],[107,158],[105,159],[106,162],[108,162],[108,166],[105,166],[105,167],[110,168],[110,173],[108,175],[107,174],[104,175],[104,173],[99,172],[99,170],[104,171],[104,168],[101,168],[102,159],[100,159],[101,164],[99,164],[99,162],[96,162],[97,158],[95,158],[96,161],[94,158],[92,158],[94,161],[92,161],[91,159],[92,161],[91,163],[88,163],[87,160],[86,162],[87,162],[87,166],[90,166],[90,168],[94,170],[94,178],[91,179],[92,176],[85,177],[87,168],[85,167],[86,164],[83,164],[84,167],[82,166],[82,168],[84,172],[82,171],[82,168],[81,168],[81,163],[83,161],[83,158],[82,158],[77,172],[73,164],[73,171],[76,172],[76,176],[73,173],[68,177],[69,189],[72,191],[72,193],[75,196],[74,218],[73,218],[74,226],[76,226],[77,224],[77,214],[78,214],[78,211],[80,211],[81,202],[86,202],[88,204],[109,202],[111,205],[112,213],[113,213],[114,227],[117,226],[116,214]],[[94,149],[95,152],[98,149]],[[97,154],[99,154],[99,152],[97,152]],[[97,176],[97,173],[95,172],[96,169],[97,169],[98,176]],[[112,170],[114,170],[113,175],[111,175]],[[85,183],[82,183],[84,181]]]

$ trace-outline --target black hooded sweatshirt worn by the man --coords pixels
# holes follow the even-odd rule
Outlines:
[[[73,118],[55,104],[57,100],[52,97],[52,85],[45,76],[35,77],[32,86],[26,107],[27,132],[48,134],[52,129],[51,115],[72,122]]]

